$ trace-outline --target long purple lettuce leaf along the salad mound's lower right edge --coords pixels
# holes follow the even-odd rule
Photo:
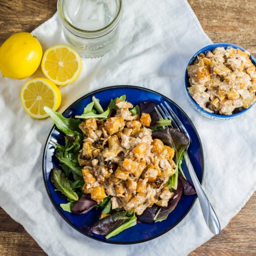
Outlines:
[[[159,211],[155,215],[155,222],[162,222],[166,220],[168,215],[175,209],[177,203],[180,201],[182,196],[182,183],[178,181],[177,189],[173,189],[174,196],[172,199],[169,200],[167,207],[161,207]]]

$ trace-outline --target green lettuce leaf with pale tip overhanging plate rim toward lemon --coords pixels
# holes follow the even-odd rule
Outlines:
[[[81,130],[78,127],[78,125],[81,123],[79,119],[74,119],[71,117],[66,118],[47,106],[44,106],[44,111],[52,118],[54,124],[59,130],[61,130],[61,132],[65,133],[66,135],[81,134]]]

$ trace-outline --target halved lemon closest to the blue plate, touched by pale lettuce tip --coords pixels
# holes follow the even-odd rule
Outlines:
[[[54,111],[60,107],[61,91],[46,78],[34,78],[22,86],[20,100],[28,115],[42,119],[49,116],[43,110],[44,106],[48,106]]]

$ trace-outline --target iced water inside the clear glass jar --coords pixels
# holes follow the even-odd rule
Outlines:
[[[97,30],[106,27],[117,13],[116,0],[71,0],[66,1],[67,20],[82,30]]]

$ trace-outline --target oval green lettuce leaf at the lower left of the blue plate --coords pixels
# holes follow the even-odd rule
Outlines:
[[[60,169],[53,168],[51,172],[51,181],[56,188],[55,191],[60,191],[72,201],[78,200],[78,195],[72,189],[70,181]]]

